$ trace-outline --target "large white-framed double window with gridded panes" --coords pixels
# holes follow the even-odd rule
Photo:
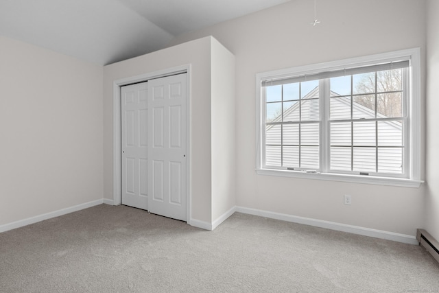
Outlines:
[[[259,174],[420,184],[419,49],[257,75]]]

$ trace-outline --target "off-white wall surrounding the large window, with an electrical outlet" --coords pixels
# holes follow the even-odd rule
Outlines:
[[[423,226],[424,187],[278,178],[254,171],[256,73],[412,47],[421,47],[425,55],[425,1],[318,1],[321,23],[313,27],[313,19],[313,1],[295,0],[172,42],[213,35],[235,54],[237,205],[414,236]],[[352,206],[343,204],[344,194],[351,194]]]

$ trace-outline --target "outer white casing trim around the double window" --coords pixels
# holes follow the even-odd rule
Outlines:
[[[265,100],[261,92],[261,83],[264,80],[284,78],[286,76],[292,75],[309,75],[313,73],[319,73],[322,71],[332,71],[337,69],[344,69],[346,67],[361,67],[370,65],[372,63],[378,62],[389,62],[395,58],[408,58],[410,60],[411,75],[410,79],[412,81],[411,88],[409,91],[410,95],[410,105],[409,105],[409,127],[410,127],[410,150],[409,150],[409,160],[410,172],[409,178],[394,178],[394,177],[383,177],[383,176],[361,176],[361,175],[351,175],[351,174],[335,174],[335,173],[307,173],[303,171],[292,171],[283,169],[270,169],[263,167],[263,137],[265,122],[262,121],[261,117],[263,115]],[[333,62],[324,62],[314,65],[305,65],[300,67],[292,67],[287,69],[280,69],[275,71],[268,71],[264,73],[258,73],[256,75],[256,93],[257,93],[257,104],[256,104],[256,137],[257,137],[257,159],[256,159],[256,171],[260,175],[268,176],[283,176],[283,177],[293,177],[293,178],[304,178],[304,179],[317,179],[317,180],[331,180],[331,181],[343,181],[347,183],[365,183],[374,185],[391,185],[391,186],[401,186],[401,187],[419,187],[423,180],[420,178],[420,147],[421,147],[421,135],[420,135],[420,98],[421,98],[421,87],[420,87],[420,48],[405,49],[400,51],[392,51],[383,54],[375,54],[370,56],[364,56],[359,58],[349,58],[344,60],[337,60]],[[327,135],[324,132],[322,135]],[[326,148],[324,149],[326,150]],[[325,152],[325,151],[323,151]],[[320,152],[321,156],[327,159],[328,154]]]

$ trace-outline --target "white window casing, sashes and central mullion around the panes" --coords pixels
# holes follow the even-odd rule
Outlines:
[[[398,65],[399,64],[399,65]],[[405,82],[401,91],[403,94],[403,115],[401,115],[401,121],[403,121],[403,132],[401,137],[401,150],[404,150],[401,157],[401,174],[397,172],[381,172],[376,170],[375,172],[334,169],[331,167],[331,160],[329,158],[331,150],[331,130],[329,124],[331,118],[329,117],[329,99],[330,86],[329,78],[339,75],[350,75],[355,72],[363,72],[364,70],[382,70],[383,66],[392,65],[399,68],[405,68],[403,76]],[[336,60],[331,62],[324,62],[314,65],[305,65],[300,67],[292,67],[287,69],[279,69],[274,71],[268,71],[263,73],[257,73],[256,75],[256,172],[259,175],[264,176],[283,176],[293,178],[307,178],[315,180],[333,180],[342,181],[348,183],[362,183],[372,185],[389,185],[400,187],[414,187],[418,188],[423,183],[421,178],[421,170],[423,168],[423,162],[420,160],[422,148],[425,144],[421,135],[421,60],[420,60],[420,48],[403,49],[400,51],[391,51],[383,54],[375,54],[370,56],[363,56],[357,58],[350,58],[344,60]],[[398,68],[398,67],[397,67]],[[366,72],[366,71],[364,71]],[[319,149],[319,162],[310,169],[305,167],[294,166],[294,164],[287,163],[278,164],[267,163],[265,146],[267,133],[265,132],[266,126],[270,125],[284,125],[301,123],[298,121],[266,121],[265,115],[267,115],[267,104],[272,104],[272,101],[265,100],[265,91],[267,86],[280,85],[287,83],[303,82],[309,78],[319,81],[318,87],[320,88],[319,101],[320,101],[320,119],[313,120],[313,125],[318,125],[319,132],[318,145],[314,145]],[[378,93],[378,92],[377,92]],[[317,99],[316,99],[317,100]],[[278,103],[278,101],[275,101]],[[282,102],[283,103],[283,102]],[[285,112],[286,113],[286,112]],[[375,115],[376,116],[376,115]],[[372,121],[378,121],[377,117]],[[351,121],[351,120],[346,120]],[[354,121],[354,120],[352,120]],[[356,119],[355,121],[359,121]],[[309,121],[305,121],[309,122]],[[353,130],[351,130],[353,131]],[[351,132],[352,133],[352,132]],[[277,135],[277,134],[276,134]],[[279,139],[281,140],[281,139]],[[276,147],[283,145],[277,141],[274,143]],[[379,145],[375,145],[378,150]],[[281,148],[279,148],[281,150]],[[277,154],[277,153],[276,153]],[[296,164],[298,165],[298,164]],[[376,165],[377,159],[376,159]],[[293,168],[294,167],[294,168]]]

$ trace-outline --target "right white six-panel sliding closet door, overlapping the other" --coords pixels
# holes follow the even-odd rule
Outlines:
[[[148,80],[148,210],[187,220],[186,73]]]

